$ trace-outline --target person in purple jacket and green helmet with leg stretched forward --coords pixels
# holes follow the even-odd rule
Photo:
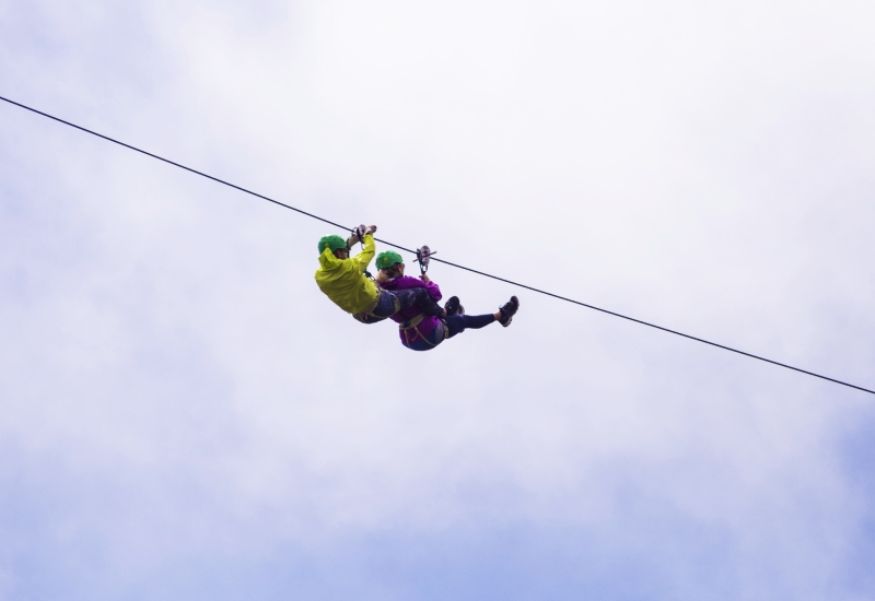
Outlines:
[[[380,270],[376,283],[387,291],[424,287],[433,300],[441,299],[441,288],[428,275],[423,273],[419,278],[407,276],[404,274],[404,259],[394,250],[381,252],[376,257],[376,268]],[[401,344],[411,351],[430,351],[447,338],[453,338],[467,329],[478,330],[494,321],[506,328],[520,309],[520,300],[516,296],[511,296],[511,299],[495,313],[465,315],[465,308],[459,304],[458,297],[453,296],[446,302],[444,309],[446,316],[443,318],[427,316],[419,307],[402,309],[393,315],[392,319],[398,322]]]

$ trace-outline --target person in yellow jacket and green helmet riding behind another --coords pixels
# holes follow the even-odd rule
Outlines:
[[[316,270],[316,284],[331,302],[361,321],[376,323],[402,309],[419,306],[425,315],[444,315],[444,309],[429,296],[425,288],[384,291],[368,273],[368,266],[374,258],[375,225],[364,231],[362,250],[349,257],[349,249],[359,241],[358,234],[349,240],[340,236],[323,236],[319,240],[319,269]]]

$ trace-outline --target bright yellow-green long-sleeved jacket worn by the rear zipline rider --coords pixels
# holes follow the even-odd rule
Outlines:
[[[347,313],[370,313],[376,306],[380,292],[364,275],[374,258],[376,246],[371,234],[364,236],[364,250],[350,259],[338,259],[330,248],[319,255],[316,284],[335,305]]]

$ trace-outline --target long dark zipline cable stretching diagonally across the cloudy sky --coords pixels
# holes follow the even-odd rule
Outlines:
[[[277,205],[282,207],[284,209],[289,209],[289,210],[294,211],[296,213],[301,213],[302,215],[306,215],[308,217],[313,217],[314,220],[318,220],[318,221],[320,221],[323,223],[327,223],[329,225],[334,225],[336,227],[340,227],[341,229],[345,229],[345,231],[350,231],[351,229],[350,227],[347,227],[345,225],[340,225],[339,223],[335,223],[335,222],[332,222],[330,220],[327,220],[325,217],[320,217],[318,215],[314,215],[313,213],[308,213],[306,211],[303,211],[301,209],[292,207],[291,204],[285,204],[284,202],[280,202],[279,200],[275,200],[275,199],[266,197],[264,195],[259,195],[258,192],[254,192],[252,190],[243,188],[242,186],[237,186],[236,184],[231,184],[230,181],[225,181],[224,179],[220,179],[218,177],[213,177],[213,176],[211,176],[209,174],[206,174],[203,172],[199,172],[197,169],[192,169],[191,167],[186,167],[185,165],[183,165],[180,163],[176,163],[175,161],[171,161],[170,158],[164,158],[163,156],[159,156],[158,154],[153,154],[153,153],[144,151],[142,149],[138,149],[137,146],[132,146],[130,144],[126,144],[125,142],[121,142],[121,141],[116,140],[114,138],[109,138],[108,135],[104,135],[103,133],[97,133],[96,131],[90,130],[90,129],[84,128],[82,126],[78,126],[78,125],[72,123],[70,121],[66,121],[65,119],[61,119],[60,117],[55,117],[54,115],[49,115],[48,113],[43,113],[42,110],[37,110],[36,108],[30,107],[27,105],[23,105],[21,103],[16,103],[15,101],[12,101],[12,99],[7,98],[4,96],[0,96],[0,101],[3,101],[3,102],[9,103],[11,105],[18,106],[19,108],[23,108],[25,110],[30,110],[31,113],[35,113],[36,115],[40,115],[40,116],[46,117],[48,119],[51,119],[54,121],[58,121],[59,123],[63,123],[63,125],[69,126],[71,128],[78,129],[79,131],[84,131],[85,133],[90,133],[92,135],[96,135],[97,138],[106,140],[107,142],[113,142],[114,144],[118,144],[119,146],[124,146],[124,148],[126,148],[128,150],[132,150],[135,152],[139,152],[140,154],[144,154],[147,156],[150,156],[152,158],[161,161],[162,163],[167,163],[168,165],[173,165],[174,167],[178,167],[180,169],[184,169],[186,172],[192,173],[195,175],[199,175],[201,177],[206,177],[207,179],[211,179],[211,180],[213,180],[213,181],[215,181],[218,184],[222,184],[223,186],[228,186],[229,188],[233,188],[235,190],[240,190],[241,192],[245,192],[245,193],[247,193],[249,196],[254,196],[254,197],[259,198],[261,200],[266,200],[268,202],[272,202],[273,204],[277,204]],[[393,244],[393,243],[387,241],[387,240],[383,240],[383,239],[380,239],[380,238],[374,238],[374,239],[376,241],[378,241],[378,243],[385,244],[386,246],[392,246],[392,247],[397,248],[399,250],[405,250],[407,252],[416,252],[415,250],[411,250],[409,248],[405,248],[404,246],[398,246],[397,244]],[[850,384],[850,382],[847,382],[847,381],[837,380],[836,378],[830,378],[828,376],[824,376],[824,375],[820,375],[820,374],[815,374],[814,372],[808,372],[807,369],[802,369],[800,367],[793,367],[792,365],[788,365],[785,363],[780,363],[778,361],[773,361],[773,360],[766,358],[766,357],[762,357],[762,356],[759,356],[759,355],[755,355],[752,353],[747,353],[747,352],[740,351],[738,349],[733,349],[732,346],[726,346],[724,344],[719,344],[716,342],[711,342],[710,340],[705,340],[703,338],[698,338],[698,337],[695,337],[695,335],[685,334],[684,332],[679,332],[677,330],[672,330],[670,328],[664,328],[662,326],[657,326],[657,325],[651,323],[649,321],[643,321],[641,319],[635,319],[634,317],[629,317],[627,315],[615,313],[615,311],[611,311],[611,310],[608,310],[608,309],[603,309],[603,308],[596,307],[594,305],[587,305],[586,303],[581,303],[580,300],[574,300],[573,298],[568,298],[565,296],[560,296],[558,294],[553,294],[551,292],[547,292],[547,291],[544,291],[544,290],[540,290],[540,288],[536,288],[534,286],[528,286],[526,284],[521,284],[520,282],[514,282],[513,280],[506,280],[504,278],[499,278],[498,275],[492,275],[491,273],[486,273],[483,271],[478,271],[476,269],[471,269],[469,267],[460,266],[458,263],[453,263],[451,261],[446,261],[446,260],[443,260],[443,259],[438,259],[436,257],[432,257],[431,260],[432,261],[438,261],[438,262],[441,262],[441,263],[444,263],[444,264],[447,264],[447,266],[451,266],[451,267],[455,267],[457,269],[469,271],[471,273],[476,273],[476,274],[482,275],[485,278],[490,278],[492,280],[498,280],[499,282],[504,282],[506,284],[518,286],[521,288],[529,290],[532,292],[537,292],[538,294],[544,294],[546,296],[551,296],[553,298],[558,298],[559,300],[564,300],[564,302],[571,303],[573,305],[580,305],[581,307],[586,307],[587,309],[593,309],[593,310],[600,311],[600,313],[604,313],[604,314],[607,314],[607,315],[612,315],[614,317],[619,317],[621,319],[626,319],[628,321],[633,321],[633,322],[640,323],[642,326],[648,326],[650,328],[655,328],[657,330],[662,330],[664,332],[668,332],[668,333],[672,333],[672,334],[684,337],[684,338],[689,339],[689,340],[695,340],[696,342],[701,342],[703,344],[709,344],[709,345],[715,346],[718,349],[723,349],[724,351],[730,351],[730,352],[733,352],[733,353],[737,353],[739,355],[744,355],[746,357],[756,358],[756,360],[759,360],[759,361],[762,361],[762,362],[766,362],[766,363],[770,363],[772,365],[777,365],[779,367],[785,367],[786,369],[792,369],[794,372],[798,372],[800,374],[806,374],[808,376],[814,376],[815,378],[820,378],[821,380],[831,381],[833,384],[839,384],[841,386],[847,386],[848,388],[854,388],[854,389],[861,390],[863,392],[868,392],[870,394],[875,394],[875,390],[870,390],[868,388],[863,388],[862,386],[856,386],[856,385],[853,385],[853,384]]]

